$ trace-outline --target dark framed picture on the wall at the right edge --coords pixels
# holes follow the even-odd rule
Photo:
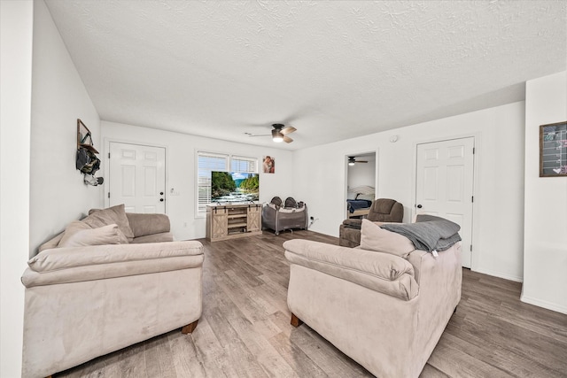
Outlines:
[[[567,176],[567,121],[540,125],[540,177]]]

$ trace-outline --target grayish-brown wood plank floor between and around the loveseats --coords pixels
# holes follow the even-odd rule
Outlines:
[[[282,243],[310,231],[205,246],[203,315],[57,377],[372,376],[307,325],[293,328]],[[567,315],[520,302],[521,283],[463,269],[462,300],[422,377],[567,377]],[[346,325],[347,327],[347,325]]]

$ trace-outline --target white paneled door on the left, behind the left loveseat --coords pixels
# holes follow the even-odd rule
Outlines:
[[[166,150],[110,143],[109,204],[127,212],[166,212]]]

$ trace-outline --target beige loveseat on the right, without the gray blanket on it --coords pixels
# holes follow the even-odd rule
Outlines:
[[[362,220],[361,247],[291,240],[291,324],[307,323],[377,377],[417,377],[461,298],[461,243],[446,251]]]

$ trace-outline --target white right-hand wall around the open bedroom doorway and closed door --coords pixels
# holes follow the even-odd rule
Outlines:
[[[399,135],[391,143],[391,135]],[[295,153],[294,194],[318,218],[310,228],[338,235],[344,218],[345,155],[378,150],[377,197],[404,204],[412,217],[416,143],[475,136],[472,269],[521,281],[524,242],[524,102],[330,143]],[[317,166],[306,162],[315,161]]]

